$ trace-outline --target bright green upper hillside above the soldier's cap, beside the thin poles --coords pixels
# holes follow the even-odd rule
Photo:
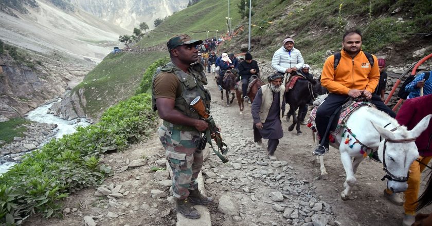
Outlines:
[[[231,30],[241,21],[237,12],[239,2],[230,1]],[[207,31],[208,37],[220,36],[227,33],[225,17],[228,17],[228,1],[203,0],[169,16],[153,31],[148,32],[138,44],[145,47],[165,44],[170,37],[178,33],[187,33],[195,39],[206,39]]]

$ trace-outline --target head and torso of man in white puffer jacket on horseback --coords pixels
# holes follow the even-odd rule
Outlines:
[[[287,37],[283,45],[273,54],[272,67],[280,73],[291,73],[302,68],[303,56],[298,49],[294,48],[294,40]]]

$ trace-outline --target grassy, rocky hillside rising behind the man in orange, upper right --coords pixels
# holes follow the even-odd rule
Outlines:
[[[412,52],[430,47],[432,31],[429,0],[256,0],[251,18],[254,54],[271,58],[286,36],[292,36],[309,64],[321,65],[325,56],[341,48],[345,29],[363,31],[363,49],[386,56],[392,64],[411,62]],[[400,21],[402,20],[402,21]],[[266,23],[265,21],[272,22]],[[247,20],[241,24],[246,25]],[[223,49],[247,43],[247,29]],[[330,50],[330,51],[329,51]],[[326,54],[327,53],[327,54]]]

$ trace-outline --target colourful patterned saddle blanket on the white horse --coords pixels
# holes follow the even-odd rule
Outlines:
[[[351,101],[349,103],[344,104],[343,109],[340,111],[340,116],[337,121],[336,128],[333,131],[330,131],[329,138],[332,143],[335,142],[334,139],[336,138],[337,134],[339,133],[340,129],[344,127],[345,123],[347,122],[348,118],[351,116],[351,114],[357,110],[360,107],[375,107],[374,104],[370,102],[363,102],[363,101]],[[312,129],[312,131],[316,132],[316,124],[315,124],[315,118],[316,118],[316,111],[318,110],[319,106],[315,106],[311,111],[311,116],[308,119],[307,126]],[[319,135],[318,135],[319,137]]]

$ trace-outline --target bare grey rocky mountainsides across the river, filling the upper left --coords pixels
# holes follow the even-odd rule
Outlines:
[[[141,22],[152,26],[152,20],[185,8],[187,2],[20,0],[2,3],[0,40],[17,47],[25,62],[0,52],[0,116],[22,117],[27,111],[62,96],[79,84],[114,46],[122,46],[119,35],[132,33],[131,28]],[[58,114],[64,115],[61,111],[73,108],[78,114],[63,118],[85,116],[73,106],[85,105],[83,98],[77,97],[75,104],[63,105]]]

